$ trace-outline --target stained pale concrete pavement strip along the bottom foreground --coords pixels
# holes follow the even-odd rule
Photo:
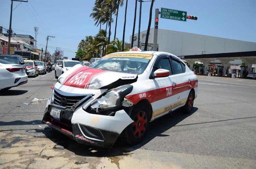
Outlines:
[[[0,132],[1,169],[255,169],[256,160],[129,148],[88,149],[71,144],[54,149],[48,138]]]

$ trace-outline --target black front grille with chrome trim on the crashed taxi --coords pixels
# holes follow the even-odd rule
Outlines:
[[[56,89],[54,90],[54,104],[67,107],[68,110],[71,110],[71,107],[74,104],[81,101],[85,97],[86,100],[90,98],[87,94],[72,96],[70,93],[65,93],[60,90],[57,91]]]

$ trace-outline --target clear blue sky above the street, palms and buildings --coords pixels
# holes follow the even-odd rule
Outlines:
[[[56,47],[64,50],[64,56],[72,58],[77,45],[89,35],[95,36],[99,27],[90,18],[95,0],[28,0],[13,2],[12,29],[17,34],[35,36],[34,27],[39,27],[37,46],[45,50],[46,36],[52,35],[47,49],[54,53]],[[124,26],[124,6],[120,7],[117,23],[117,38],[122,40]],[[142,3],[141,31],[147,29],[151,2]],[[128,0],[125,42],[132,34],[135,0]],[[198,20],[176,21],[159,16],[159,29],[168,29],[235,40],[256,42],[256,0],[155,0],[155,9],[165,7],[187,11],[198,16]],[[9,28],[11,0],[0,0],[0,26]],[[136,33],[138,33],[139,2],[137,6]],[[115,17],[112,24],[114,36]],[[152,20],[151,28],[154,20]],[[103,28],[105,28],[103,26]]]

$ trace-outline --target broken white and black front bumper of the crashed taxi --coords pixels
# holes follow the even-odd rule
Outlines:
[[[60,117],[50,115],[52,109],[60,110]],[[86,112],[82,106],[74,112],[63,106],[49,104],[45,109],[43,123],[75,141],[97,147],[112,147],[122,131],[133,122],[124,110],[115,116],[103,116]]]

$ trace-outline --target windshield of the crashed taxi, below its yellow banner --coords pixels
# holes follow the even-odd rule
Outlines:
[[[143,57],[126,57],[130,54],[119,54],[121,57],[114,57],[115,55],[107,55],[97,62],[89,65],[89,67],[98,68],[107,71],[142,74],[147,67],[152,55],[145,55]]]

